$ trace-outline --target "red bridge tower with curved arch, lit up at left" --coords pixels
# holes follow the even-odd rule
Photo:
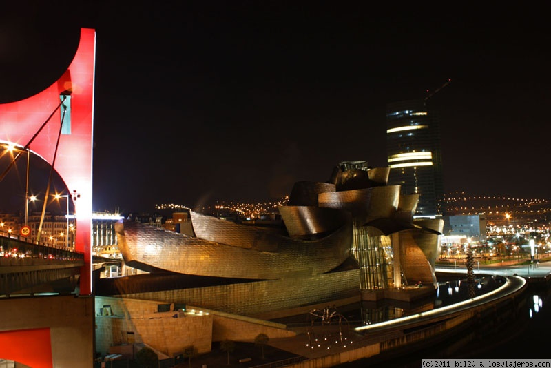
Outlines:
[[[74,205],[75,250],[83,252],[85,260],[80,274],[81,295],[92,294],[90,234],[95,54],[96,32],[83,28],[79,47],[69,68],[54,84],[28,99],[0,104],[0,140],[14,143],[21,149],[28,147],[52,165],[61,126],[61,108],[56,108],[61,102],[60,95],[70,93],[70,134],[60,136],[54,169],[70,192],[80,194]],[[56,112],[48,120],[54,110]],[[48,123],[39,132],[45,121]],[[37,132],[39,134],[32,140]]]

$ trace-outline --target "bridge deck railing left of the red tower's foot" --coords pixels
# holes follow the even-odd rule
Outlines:
[[[55,246],[45,242],[37,242],[32,238],[20,236],[0,230],[0,256],[32,257],[57,260],[83,260],[82,252]]]

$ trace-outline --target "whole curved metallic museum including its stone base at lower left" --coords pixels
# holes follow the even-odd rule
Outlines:
[[[281,326],[250,324],[250,318],[291,316],[312,305],[434,295],[444,222],[413,219],[419,196],[387,185],[388,171],[344,161],[329,182],[297,182],[289,201],[278,207],[280,221],[269,226],[191,209],[174,214],[164,228],[121,219],[114,229],[124,267],[140,272],[96,278],[98,352],[112,354],[132,340],[170,355],[185,340],[158,339],[156,331],[166,323],[191,328],[192,322],[201,325],[193,327],[193,338],[206,352],[211,342],[253,339],[266,328],[271,336],[289,334]],[[161,307],[166,321],[143,317]],[[202,317],[180,320],[191,308]],[[170,323],[171,317],[178,318]]]

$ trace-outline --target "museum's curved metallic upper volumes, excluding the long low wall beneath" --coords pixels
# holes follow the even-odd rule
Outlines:
[[[279,208],[278,229],[190,211],[194,236],[126,221],[115,227],[118,245],[131,267],[253,280],[247,283],[253,288],[260,280],[287,280],[300,285],[301,295],[311,294],[306,280],[322,274],[337,280],[344,269],[357,272],[362,292],[419,281],[436,286],[444,221],[414,221],[419,194],[386,185],[388,173],[388,167],[345,161],[333,171],[335,183],[295,183],[288,205]],[[349,286],[335,283],[333,292]]]

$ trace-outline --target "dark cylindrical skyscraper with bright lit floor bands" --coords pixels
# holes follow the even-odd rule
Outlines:
[[[386,105],[388,184],[400,185],[402,194],[419,194],[416,216],[441,214],[444,197],[438,116],[424,102]]]

